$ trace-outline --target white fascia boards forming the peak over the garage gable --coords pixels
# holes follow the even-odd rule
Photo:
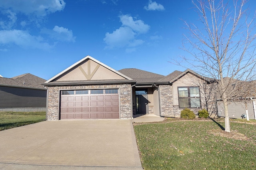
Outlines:
[[[77,61],[76,63],[74,63],[73,65],[71,65],[70,67],[68,67],[67,69],[63,70],[62,72],[58,73],[57,75],[55,75],[54,77],[50,78],[49,80],[47,80],[45,83],[49,83],[52,80],[56,79],[57,77],[59,77],[60,75],[66,73],[67,71],[69,71],[70,69],[76,67],[76,65],[82,63],[83,61],[85,61],[86,59],[91,59],[92,61],[95,61],[96,63],[102,65],[103,67],[106,67],[107,69],[110,69],[111,71],[113,71],[114,73],[117,73],[118,75],[128,79],[128,80],[132,80],[130,77],[127,77],[126,75],[116,71],[115,69],[112,69],[111,67],[105,65],[104,63],[94,59],[93,57],[91,57],[90,55],[87,55],[86,57],[84,57],[83,59],[80,59],[79,61]]]

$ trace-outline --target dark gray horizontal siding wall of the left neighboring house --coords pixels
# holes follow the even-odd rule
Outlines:
[[[0,108],[46,107],[46,90],[0,86]]]

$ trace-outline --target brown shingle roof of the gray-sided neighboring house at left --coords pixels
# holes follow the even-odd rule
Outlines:
[[[30,73],[18,75],[12,78],[0,77],[0,85],[11,85],[18,87],[33,87],[45,89],[41,83],[44,83],[46,80]]]

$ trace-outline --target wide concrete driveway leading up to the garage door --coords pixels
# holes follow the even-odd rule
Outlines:
[[[142,170],[132,120],[44,121],[0,131],[0,169]]]

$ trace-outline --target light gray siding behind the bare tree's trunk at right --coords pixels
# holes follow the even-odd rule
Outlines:
[[[218,101],[218,116],[225,117],[223,102]],[[247,104],[249,119],[254,118],[252,101],[248,101]],[[228,115],[230,118],[242,119],[242,114],[246,115],[245,104],[242,102],[229,102],[228,103]]]

